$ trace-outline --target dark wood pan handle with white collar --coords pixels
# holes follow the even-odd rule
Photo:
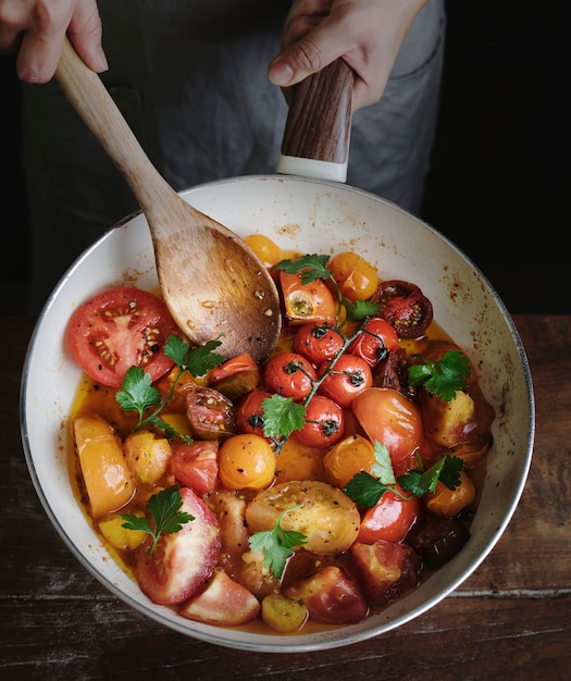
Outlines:
[[[277,172],[345,182],[355,74],[337,59],[294,86]]]

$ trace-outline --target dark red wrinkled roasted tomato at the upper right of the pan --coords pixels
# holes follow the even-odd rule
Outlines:
[[[401,338],[422,336],[432,322],[432,302],[415,284],[382,282],[371,299],[382,306],[378,317],[392,324]]]

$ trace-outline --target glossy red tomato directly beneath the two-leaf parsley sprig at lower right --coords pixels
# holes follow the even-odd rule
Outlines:
[[[407,496],[400,487],[399,491]],[[364,512],[357,541],[363,544],[374,544],[380,540],[401,542],[419,512],[419,497],[406,500],[395,492],[385,492],[376,506]]]

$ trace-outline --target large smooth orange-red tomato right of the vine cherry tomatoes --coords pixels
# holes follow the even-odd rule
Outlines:
[[[423,436],[421,412],[399,392],[371,387],[353,399],[351,408],[369,439],[387,447],[394,468],[419,447]]]

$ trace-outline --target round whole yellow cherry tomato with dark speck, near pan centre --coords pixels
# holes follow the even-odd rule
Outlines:
[[[233,435],[219,451],[219,475],[227,490],[263,490],[275,475],[275,455],[260,435]]]

